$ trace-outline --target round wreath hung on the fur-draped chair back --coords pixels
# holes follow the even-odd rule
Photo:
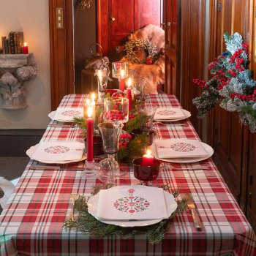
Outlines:
[[[143,48],[144,50],[148,51],[148,57],[146,59],[139,59],[136,56],[136,53],[134,51],[134,48]],[[156,45],[154,45],[152,42],[150,42],[148,39],[135,39],[128,41],[124,45],[125,50],[127,51],[127,55],[125,58],[130,61],[132,64],[154,64],[154,61],[156,61],[159,56],[157,55],[157,48]]]

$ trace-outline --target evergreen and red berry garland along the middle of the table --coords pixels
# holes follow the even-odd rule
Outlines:
[[[105,94],[104,97],[110,97],[110,94]],[[148,136],[146,133],[137,135],[135,138],[132,138],[132,135],[130,135],[133,129],[140,128],[140,119],[138,117],[135,105],[142,104],[143,102],[143,100],[132,100],[132,110],[129,111],[129,121],[127,121],[126,125],[124,126],[124,132],[122,132],[119,140],[118,162],[128,162],[130,164],[132,163],[133,159],[143,157],[143,154],[145,154],[145,148],[148,145]],[[99,116],[98,123],[103,121],[102,117],[103,113]],[[86,138],[86,118],[75,116],[73,120],[75,125],[82,129],[83,136]],[[101,136],[99,130],[94,129],[94,136]]]

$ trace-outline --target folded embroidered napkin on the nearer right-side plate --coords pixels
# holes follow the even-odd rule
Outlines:
[[[159,158],[207,157],[208,154],[198,140],[155,140]]]

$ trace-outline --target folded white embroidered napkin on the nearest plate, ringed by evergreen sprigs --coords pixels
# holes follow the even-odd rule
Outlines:
[[[167,219],[163,189],[103,189],[99,192],[99,220]]]

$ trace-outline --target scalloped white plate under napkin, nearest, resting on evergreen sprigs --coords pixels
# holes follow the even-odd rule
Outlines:
[[[116,187],[111,187],[110,189],[125,189],[128,186],[116,186]],[[133,185],[129,186],[131,189],[150,189],[150,187],[146,186],[140,186],[140,185]],[[175,198],[173,197],[172,194],[165,192],[165,203],[167,206],[167,213],[168,216],[173,213],[173,211],[176,210],[178,204],[176,203]],[[91,215],[93,215],[95,218],[97,218],[97,210],[98,210],[98,202],[99,202],[99,193],[97,195],[94,195],[90,197],[88,200],[88,211]],[[125,221],[125,220],[111,220],[111,221],[101,221],[106,224],[112,224],[116,226],[121,226],[121,227],[142,227],[142,226],[148,226],[148,225],[153,225],[156,224],[157,222],[161,222],[162,219],[152,219],[152,220],[134,220],[134,221]]]

